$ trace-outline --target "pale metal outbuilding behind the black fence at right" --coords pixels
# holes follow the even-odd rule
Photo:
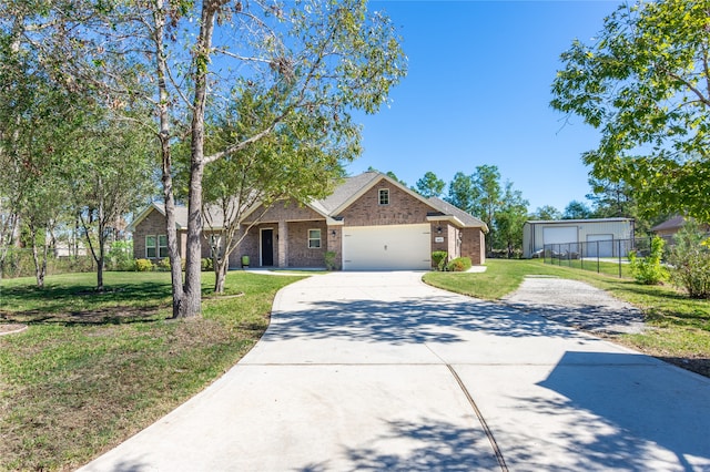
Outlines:
[[[632,238],[632,218],[530,220],[523,226],[523,257],[534,257],[548,244],[570,243],[577,245],[571,250],[581,257],[615,257],[619,248],[626,256],[628,245],[615,242]]]

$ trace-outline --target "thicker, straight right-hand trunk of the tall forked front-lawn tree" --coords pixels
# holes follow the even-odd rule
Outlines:
[[[185,260],[185,288],[178,316],[190,318],[202,312],[202,175],[204,173],[204,110],[207,91],[210,49],[214,32],[214,17],[221,2],[202,3],[200,34],[193,54],[194,101],[192,107],[192,142],[190,147],[190,192],[187,197],[187,257]]]

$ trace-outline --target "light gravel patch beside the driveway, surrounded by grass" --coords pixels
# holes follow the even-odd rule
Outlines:
[[[504,302],[546,318],[599,335],[643,330],[643,314],[588,284],[557,277],[526,277]]]

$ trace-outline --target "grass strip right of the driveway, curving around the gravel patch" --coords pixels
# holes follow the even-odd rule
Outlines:
[[[602,263],[604,264],[604,263]],[[586,281],[639,307],[650,328],[612,340],[710,377],[710,300],[696,300],[669,285],[639,285],[541,260],[490,259],[483,274],[429,273],[427,284],[471,297],[496,300],[514,291],[526,275],[551,275]],[[617,268],[618,270],[618,268]]]

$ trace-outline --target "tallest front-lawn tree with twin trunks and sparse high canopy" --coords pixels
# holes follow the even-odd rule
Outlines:
[[[389,19],[365,0],[321,2],[105,1],[43,4],[28,37],[69,86],[100,90],[106,106],[154,109],[162,156],[173,315],[201,312],[202,179],[205,166],[287,125],[297,111],[329,120],[375,113],[406,73]],[[235,83],[258,83],[276,111],[250,136],[205,152],[205,115],[235,99]],[[239,88],[236,89],[240,90]],[[243,90],[243,89],[241,89]],[[174,217],[172,146],[190,143],[184,284]]]

